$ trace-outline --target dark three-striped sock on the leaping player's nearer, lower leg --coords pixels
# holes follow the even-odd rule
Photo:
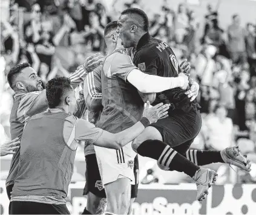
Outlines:
[[[191,178],[200,168],[160,140],[144,141],[137,148],[137,152],[141,156],[156,159],[160,165],[169,167],[170,170],[184,172]]]

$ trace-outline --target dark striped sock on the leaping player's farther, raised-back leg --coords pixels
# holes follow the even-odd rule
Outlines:
[[[192,150],[186,151],[185,157],[195,165],[206,165],[214,162],[224,162],[220,151]]]

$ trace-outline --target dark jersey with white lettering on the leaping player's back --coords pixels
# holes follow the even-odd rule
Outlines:
[[[140,71],[150,75],[177,77],[181,72],[176,56],[169,45],[162,40],[151,37],[148,33],[139,40],[137,52],[134,55],[134,63]],[[197,103],[189,101],[185,90],[181,88],[157,93],[153,105],[160,102],[172,103],[172,107],[182,109],[185,112],[197,109]]]

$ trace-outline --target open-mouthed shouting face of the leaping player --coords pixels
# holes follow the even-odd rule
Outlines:
[[[134,46],[134,33],[131,31],[132,25],[127,15],[121,15],[117,21],[116,33],[122,39],[122,45],[125,48]]]

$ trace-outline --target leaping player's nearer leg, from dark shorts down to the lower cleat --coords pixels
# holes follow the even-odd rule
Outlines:
[[[172,149],[199,133],[201,117],[199,112],[174,115],[157,121],[146,129],[133,142],[133,149],[139,155],[156,159],[163,170],[176,170],[191,176],[197,182],[197,199],[202,201],[208,194],[208,188],[217,178],[213,170],[200,168]],[[156,140],[159,136],[163,141]],[[160,139],[160,138],[159,138]]]

